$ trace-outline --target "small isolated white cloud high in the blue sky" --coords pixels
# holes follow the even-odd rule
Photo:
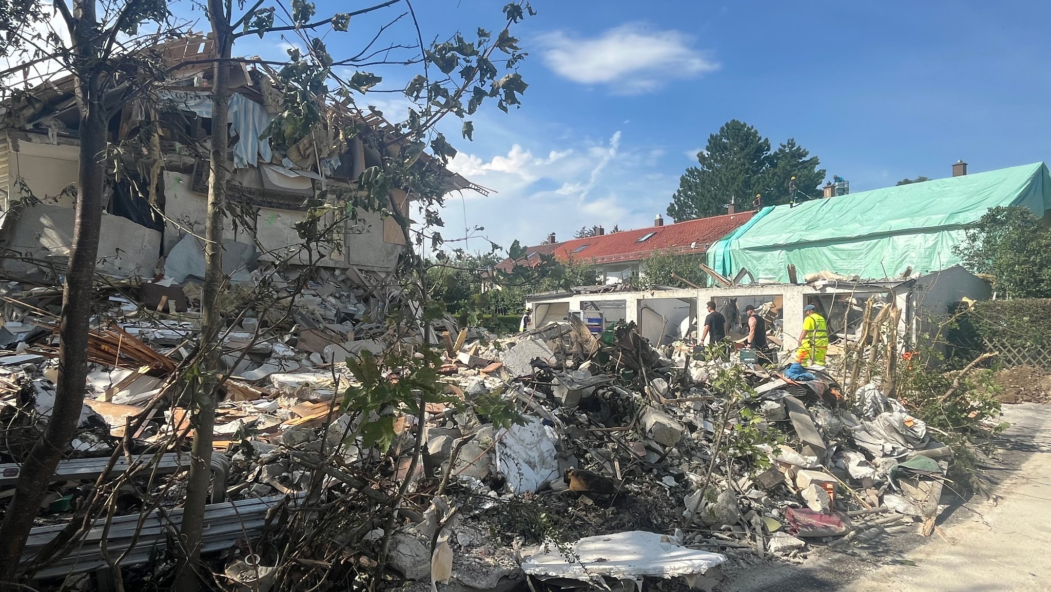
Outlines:
[[[556,30],[541,36],[539,44],[544,63],[559,76],[637,94],[718,69],[719,63],[692,47],[692,41],[677,30],[626,23],[591,38]]]

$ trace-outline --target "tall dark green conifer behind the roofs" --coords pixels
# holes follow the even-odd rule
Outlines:
[[[731,120],[708,137],[704,150],[697,154],[699,166],[692,166],[679,179],[667,215],[676,222],[726,212],[730,199],[738,206],[750,204],[757,193],[763,205],[791,199],[789,181],[810,197],[825,178],[820,160],[789,139],[770,151],[770,141],[755,127]]]

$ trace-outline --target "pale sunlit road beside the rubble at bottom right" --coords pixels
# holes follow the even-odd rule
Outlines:
[[[1051,590],[1051,405],[1006,405],[1012,424],[986,473],[994,498],[974,498],[942,525],[945,538],[899,529],[851,554],[747,570],[725,592],[1046,592]]]

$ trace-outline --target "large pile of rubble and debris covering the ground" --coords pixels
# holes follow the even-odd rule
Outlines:
[[[707,359],[688,342],[659,350],[633,324],[593,333],[571,319],[502,339],[433,335],[445,349],[435,370],[448,402],[415,414],[386,409],[393,442],[366,445],[362,427],[374,417],[346,412],[345,393],[360,383],[343,361],[419,343],[382,322],[406,303],[360,279],[284,281],[275,289],[295,284],[302,306],[239,309],[223,335],[211,499],[296,504],[320,478],[323,502],[387,503],[408,479],[393,531],[369,522],[364,502],[356,534],[343,524],[351,517],[325,518],[325,545],[345,549],[354,565],[386,545],[404,578],[392,586],[510,589],[529,575],[580,588],[683,576],[710,588],[727,557],[797,557],[898,520],[933,529],[951,454],[878,381],[851,394],[824,370]],[[64,462],[73,465],[60,467],[42,525],[68,519],[110,456],[124,455],[122,443],[156,467],[140,479],[148,492],[129,488],[137,493],[122,511],[154,498],[180,504],[192,432],[169,379],[200,330],[191,286],[143,284],[137,298],[106,297],[82,430]],[[4,329],[14,340],[0,356],[0,413],[11,428],[0,454],[9,488],[7,471],[17,476],[54,400],[55,301],[17,284],[6,291]],[[388,380],[398,376],[391,368]],[[494,421],[494,401],[516,421]],[[132,473],[120,465],[110,476],[122,470]],[[260,530],[248,534],[261,531],[267,507],[257,505]],[[601,565],[611,550],[623,562]],[[246,560],[227,571],[240,573]]]

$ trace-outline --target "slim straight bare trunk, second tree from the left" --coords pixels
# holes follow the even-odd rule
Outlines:
[[[209,1],[209,18],[219,57],[228,59],[232,52],[229,19],[223,2]],[[223,287],[223,209],[226,203],[227,108],[229,104],[229,65],[219,61],[214,66],[211,103],[211,162],[208,172],[208,213],[205,220],[205,270],[201,291],[201,358],[198,367],[203,376],[201,392],[193,393],[193,448],[190,456],[189,484],[180,530],[185,556],[181,557],[176,580],[178,592],[197,592],[201,588],[197,567],[201,559],[201,533],[204,509],[211,482],[212,429],[219,405],[219,355],[222,351],[219,334],[223,314],[217,300]]]

